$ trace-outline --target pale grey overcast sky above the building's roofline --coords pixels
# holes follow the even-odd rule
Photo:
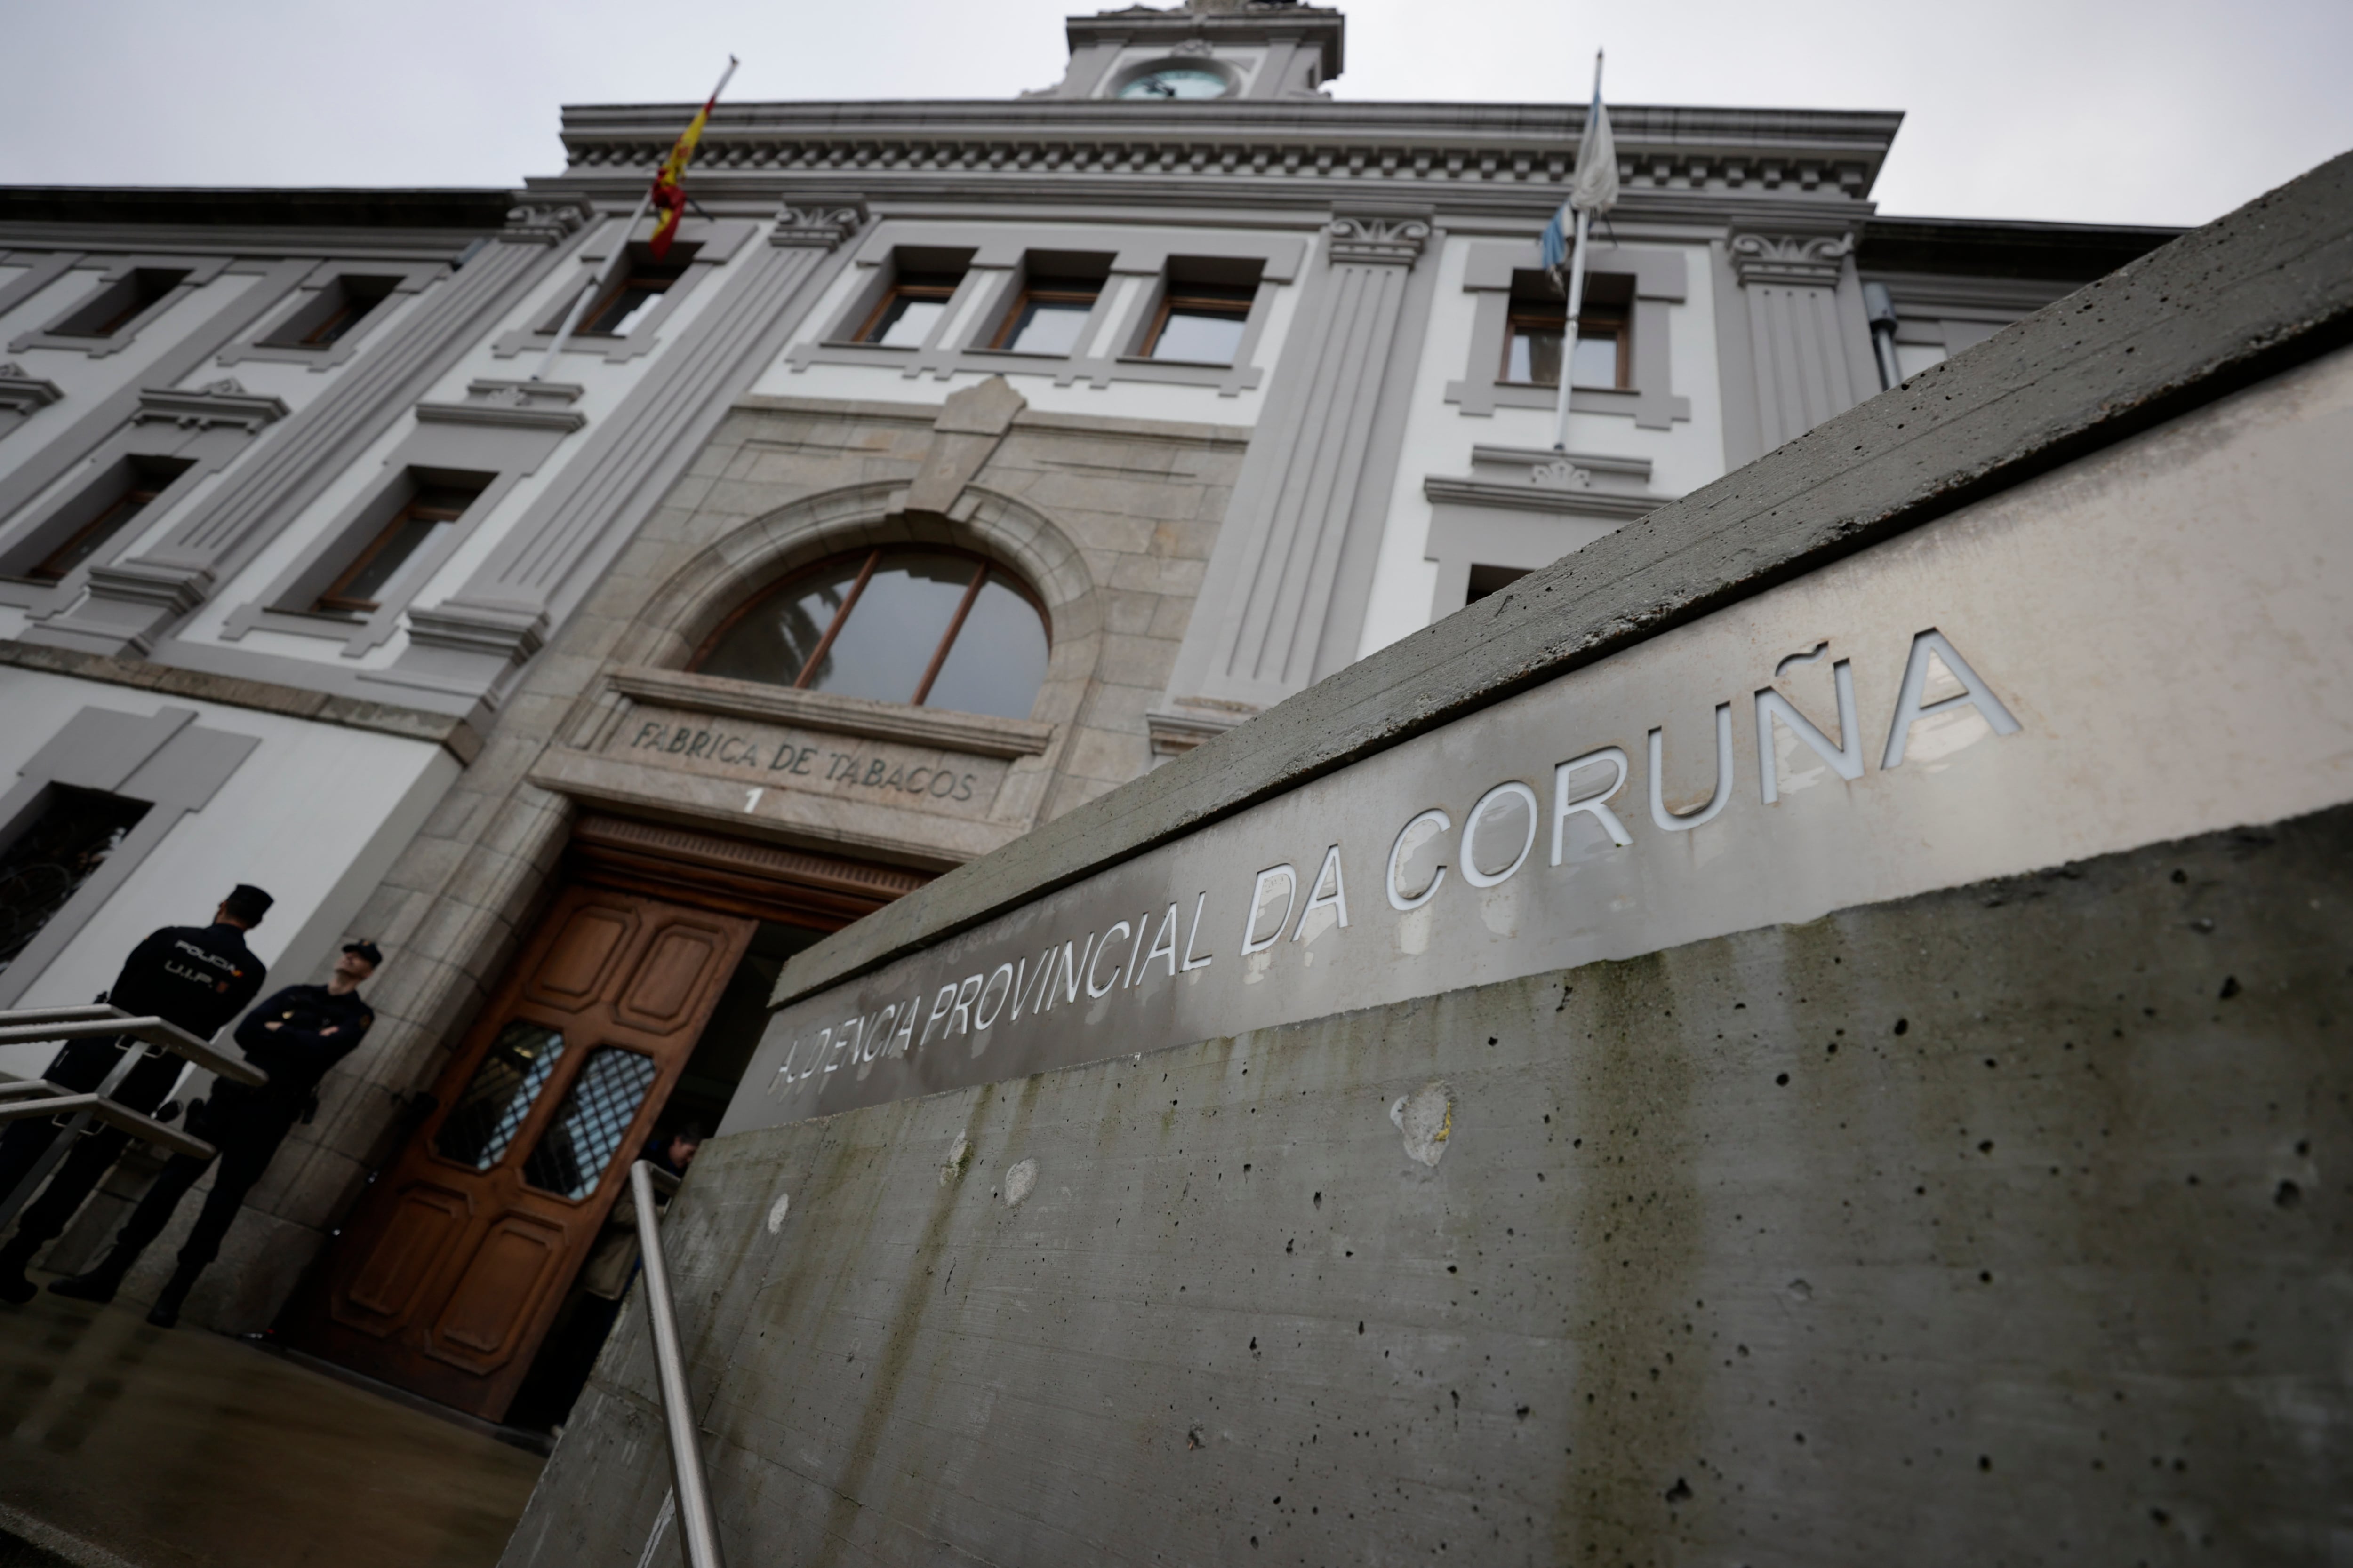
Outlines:
[[[506,186],[558,106],[1009,99],[1071,0],[0,0],[0,183]],[[2353,148],[2353,0],[1355,0],[1341,99],[1901,108],[1882,212],[2205,223]]]

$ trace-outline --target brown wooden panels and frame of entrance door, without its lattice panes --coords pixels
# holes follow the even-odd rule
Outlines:
[[[586,922],[619,929],[593,976],[565,976],[553,966],[574,954],[560,945]],[[289,1324],[289,1342],[461,1410],[504,1418],[753,929],[746,914],[593,884],[562,889],[442,1072],[440,1105],[346,1222],[329,1267]],[[652,964],[664,943],[678,945],[673,938],[706,947],[689,994],[673,999],[668,1016],[631,1006],[652,1001],[638,990],[664,980]],[[565,1044],[482,1171],[440,1154],[435,1140],[511,1023],[560,1030]],[[527,1185],[522,1166],[607,1046],[652,1056],[656,1072],[595,1187],[567,1199]]]

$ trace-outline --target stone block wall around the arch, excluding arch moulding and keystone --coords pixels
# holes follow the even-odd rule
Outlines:
[[[384,1166],[414,1095],[433,1088],[529,936],[569,837],[572,804],[529,783],[546,745],[593,701],[614,663],[682,665],[692,654],[661,621],[666,590],[715,545],[795,503],[901,487],[932,449],[936,409],[746,400],[696,454],[565,630],[485,724],[482,750],[402,851],[353,931],[386,952],[369,985],[376,1030],[329,1074],[320,1114],[299,1126],[254,1190],[191,1316],[266,1326],[301,1269]],[[1247,444],[1245,430],[1021,414],[972,484],[1033,508],[1061,534],[1085,581],[1061,585],[1068,616],[1096,639],[1075,719],[1049,757],[1040,820],[1151,766],[1144,710],[1167,684],[1184,623]],[[713,588],[713,616],[755,581]],[[1080,630],[1082,630],[1080,628]],[[1056,628],[1061,630],[1061,628]],[[819,846],[824,849],[824,846]],[[148,1248],[127,1281],[151,1298],[193,1222]],[[268,1255],[261,1267],[261,1255]]]

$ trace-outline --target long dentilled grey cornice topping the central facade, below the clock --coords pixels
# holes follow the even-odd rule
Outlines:
[[[567,179],[635,186],[668,155],[689,113],[654,103],[565,110]],[[840,179],[880,200],[948,188],[1047,195],[1073,186],[1087,186],[1089,197],[1148,195],[1181,176],[1179,190],[1198,183],[1200,200],[1219,202],[1259,190],[1327,202],[1355,190],[1355,200],[1386,193],[1558,205],[1584,118],[1581,106],[1558,103],[1322,99],[1181,108],[1092,99],[722,103],[694,169],[706,200],[772,188],[776,179],[795,188]],[[1842,202],[1868,195],[1901,115],[1628,103],[1609,110],[1609,125],[1631,207],[1666,195]]]

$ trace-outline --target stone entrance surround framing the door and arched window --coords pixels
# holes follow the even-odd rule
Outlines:
[[[562,632],[496,696],[480,755],[353,922],[386,950],[376,1030],[247,1201],[191,1316],[226,1331],[275,1319],[367,1175],[405,1143],[424,1091],[541,917],[584,813],[929,875],[1148,771],[1146,712],[1167,686],[1247,440],[1226,425],[1038,414],[1002,378],[944,407],[739,400]],[[899,541],[979,550],[1040,595],[1052,656],[1031,719],[960,724],[685,670],[727,611],[786,571]],[[746,818],[758,780],[626,771],[598,750],[602,726],[659,705],[736,733],[828,726],[866,748],[953,752],[969,757],[958,766],[998,773],[998,788],[976,816],[861,820],[802,795],[788,797],[793,811]],[[151,1255],[169,1262],[169,1251]],[[127,1291],[158,1284],[134,1274]]]

